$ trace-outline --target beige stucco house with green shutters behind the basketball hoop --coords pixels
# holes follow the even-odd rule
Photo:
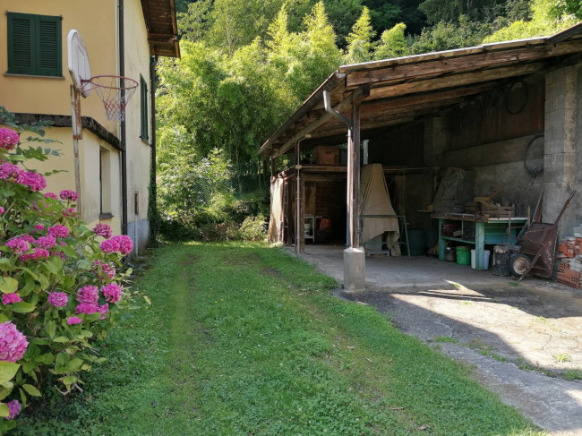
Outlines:
[[[130,235],[135,252],[147,244],[149,185],[155,165],[154,66],[158,56],[179,57],[174,0],[0,0],[0,106],[22,123],[52,120],[47,136],[60,157],[47,167],[47,191],[75,189],[71,117],[72,79],[67,34],[78,30],[91,75],[120,75],[139,83],[124,123],[107,121],[95,93],[81,99],[79,141],[82,219]],[[43,163],[43,165],[45,165]]]

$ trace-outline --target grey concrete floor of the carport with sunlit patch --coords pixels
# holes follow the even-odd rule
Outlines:
[[[307,245],[302,257],[341,283],[343,250]],[[582,435],[582,380],[565,379],[582,372],[582,290],[427,257],[381,256],[366,258],[365,291],[337,294],[374,305],[399,329],[466,363],[550,434]]]

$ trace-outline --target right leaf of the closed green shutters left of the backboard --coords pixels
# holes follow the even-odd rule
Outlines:
[[[37,74],[42,76],[61,76],[62,44],[61,17],[38,15],[37,17]]]

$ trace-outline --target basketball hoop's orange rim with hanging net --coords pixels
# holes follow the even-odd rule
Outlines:
[[[100,75],[82,81],[82,90],[87,94],[95,90],[109,121],[124,121],[125,107],[137,89],[138,82],[123,76]]]

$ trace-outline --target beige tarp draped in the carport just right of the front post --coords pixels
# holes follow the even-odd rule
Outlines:
[[[384,171],[381,164],[362,167],[360,180],[360,215],[396,215],[392,203]],[[362,241],[364,248],[379,251],[375,246],[380,244],[381,236],[388,232],[387,248],[392,256],[400,255],[400,229],[398,218],[364,218],[362,220]],[[373,247],[372,247],[373,245]]]

